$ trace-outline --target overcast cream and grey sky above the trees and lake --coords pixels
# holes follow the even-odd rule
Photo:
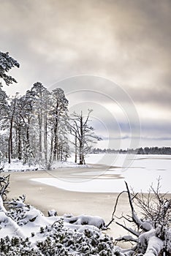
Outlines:
[[[0,0],[0,50],[24,94],[61,87],[94,109],[99,147],[171,146],[170,0]]]

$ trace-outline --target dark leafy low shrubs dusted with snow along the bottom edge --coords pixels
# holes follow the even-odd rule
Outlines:
[[[96,231],[85,230],[79,233],[64,227],[59,219],[55,225],[49,225],[35,234],[35,238],[8,236],[1,238],[0,251],[4,255],[114,255],[113,240]]]

